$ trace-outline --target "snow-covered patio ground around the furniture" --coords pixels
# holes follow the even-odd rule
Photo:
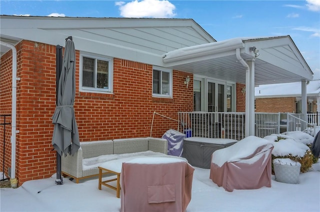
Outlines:
[[[209,169],[194,167],[192,196],[186,211],[319,211],[320,163],[300,173],[298,184],[277,182],[254,190],[225,191],[209,179]],[[1,188],[1,211],[120,211],[120,199],[98,179],[76,184],[55,175],[30,180],[18,188]],[[39,192],[40,191],[40,192]]]

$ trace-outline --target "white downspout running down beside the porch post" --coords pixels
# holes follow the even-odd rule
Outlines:
[[[250,68],[240,55],[240,48],[235,49],[235,56],[239,62],[245,67],[245,137],[249,136],[250,124],[250,99],[249,99],[249,83],[250,83]]]

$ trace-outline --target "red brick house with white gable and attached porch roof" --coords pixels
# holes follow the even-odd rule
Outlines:
[[[0,115],[11,115],[0,128],[0,170],[19,184],[55,172],[55,53],[68,36],[80,141],[160,137],[177,127],[179,111],[193,110],[245,111],[252,135],[254,86],[303,87],[313,74],[289,35],[216,41],[192,19],[0,18]]]

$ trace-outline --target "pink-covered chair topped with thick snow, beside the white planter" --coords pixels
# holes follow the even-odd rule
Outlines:
[[[266,139],[248,136],[212,153],[210,179],[227,191],[271,187],[271,152]]]

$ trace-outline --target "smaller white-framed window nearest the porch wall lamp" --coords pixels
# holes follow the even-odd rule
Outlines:
[[[152,95],[172,97],[172,70],[153,67]]]

